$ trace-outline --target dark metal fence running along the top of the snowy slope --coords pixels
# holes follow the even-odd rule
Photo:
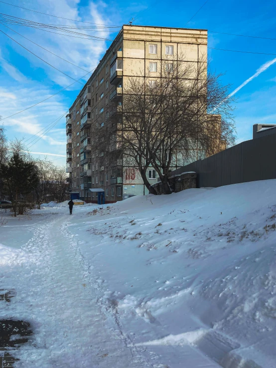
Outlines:
[[[197,173],[197,188],[276,179],[276,134],[247,140],[172,172]]]

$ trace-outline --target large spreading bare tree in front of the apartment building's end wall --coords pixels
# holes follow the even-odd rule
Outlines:
[[[197,63],[163,60],[158,77],[151,75],[124,78],[121,100],[92,126],[92,152],[103,165],[116,167],[122,159],[125,168],[137,168],[148,191],[157,194],[146,176],[153,168],[170,194],[173,168],[233,143],[233,99],[221,74],[207,74],[204,56]]]

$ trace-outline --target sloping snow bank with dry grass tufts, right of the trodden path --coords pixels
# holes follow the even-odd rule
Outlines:
[[[135,196],[74,221],[136,346],[276,368],[276,180]]]

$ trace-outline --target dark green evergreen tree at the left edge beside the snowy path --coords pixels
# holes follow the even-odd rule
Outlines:
[[[18,153],[13,153],[6,163],[0,163],[0,177],[16,217],[19,198],[32,192],[39,184],[37,168],[33,162],[27,162]]]

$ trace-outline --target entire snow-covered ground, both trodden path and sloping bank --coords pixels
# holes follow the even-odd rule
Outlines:
[[[276,367],[276,180],[3,216],[15,367]]]

